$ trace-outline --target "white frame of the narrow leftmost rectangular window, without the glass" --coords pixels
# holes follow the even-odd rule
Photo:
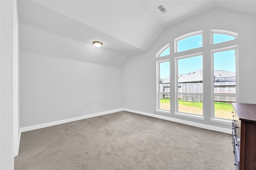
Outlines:
[[[165,62],[170,62],[170,59],[156,61],[156,111],[161,113],[171,113],[171,111],[160,109],[160,94],[170,95],[170,92],[160,92],[160,83],[159,83],[160,82],[160,63],[165,63]]]

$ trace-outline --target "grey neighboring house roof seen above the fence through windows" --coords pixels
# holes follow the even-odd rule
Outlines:
[[[202,69],[197,69],[190,73],[179,74],[178,83],[202,82],[202,77]],[[236,73],[225,70],[214,70],[214,81],[236,81]],[[162,79],[162,83],[170,83],[170,77],[165,77]]]

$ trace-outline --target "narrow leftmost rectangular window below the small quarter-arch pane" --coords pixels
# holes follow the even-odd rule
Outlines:
[[[157,109],[170,111],[170,61],[157,61]]]

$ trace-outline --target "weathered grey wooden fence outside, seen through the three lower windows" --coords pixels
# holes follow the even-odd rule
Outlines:
[[[179,83],[178,92],[181,93],[203,93],[202,83]],[[170,83],[160,84],[160,92],[170,92]],[[226,94],[226,96],[215,96],[214,100],[217,102],[236,102],[236,97],[228,96],[229,94],[236,93],[236,82],[215,82],[214,83],[215,94]],[[169,94],[160,95],[160,99],[170,98]],[[202,102],[202,95],[185,95],[180,94],[179,99],[183,101]]]

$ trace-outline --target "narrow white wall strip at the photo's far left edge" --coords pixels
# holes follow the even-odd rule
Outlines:
[[[14,1],[0,1],[0,169],[14,168],[12,140],[12,12]]]

